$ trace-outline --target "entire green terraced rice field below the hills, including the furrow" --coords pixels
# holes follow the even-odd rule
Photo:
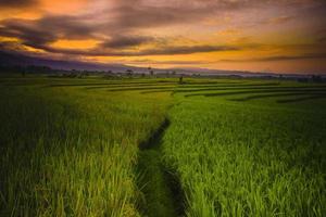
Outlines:
[[[326,85],[0,79],[1,215],[323,216]]]

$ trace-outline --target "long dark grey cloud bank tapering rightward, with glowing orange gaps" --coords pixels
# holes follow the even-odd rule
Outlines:
[[[239,48],[230,46],[170,46],[168,39],[151,36],[129,34],[110,35],[110,28],[103,29],[105,24],[89,23],[78,16],[45,16],[36,21],[4,20],[0,23],[0,36],[20,39],[23,46],[42,49],[51,53],[72,55],[106,55],[106,56],[137,56],[137,55],[175,55],[200,52],[235,51]],[[82,34],[83,33],[83,34]],[[104,36],[99,36],[99,35]],[[110,37],[110,39],[108,39]],[[95,49],[60,49],[51,47],[59,39],[97,39],[101,41]],[[164,41],[164,42],[162,42]],[[145,43],[154,48],[135,49]],[[130,48],[133,48],[130,50]],[[128,50],[125,50],[128,49]]]

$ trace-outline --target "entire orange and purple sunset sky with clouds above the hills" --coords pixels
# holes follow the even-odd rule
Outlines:
[[[0,49],[160,68],[326,74],[325,0],[0,0]]]

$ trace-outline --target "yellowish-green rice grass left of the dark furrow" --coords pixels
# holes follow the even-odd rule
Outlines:
[[[1,215],[139,216],[138,143],[166,98],[39,90],[1,88]]]

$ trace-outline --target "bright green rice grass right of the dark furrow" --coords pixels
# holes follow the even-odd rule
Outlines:
[[[183,99],[162,146],[187,215],[323,216],[325,101],[306,106]]]

